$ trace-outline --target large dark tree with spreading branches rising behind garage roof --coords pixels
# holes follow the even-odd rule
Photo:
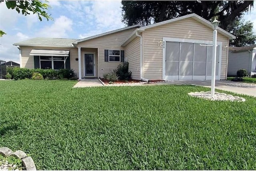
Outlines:
[[[253,1],[122,1],[122,22],[152,24],[195,13],[206,20],[220,20],[226,31],[234,27],[244,12],[253,7]]]

